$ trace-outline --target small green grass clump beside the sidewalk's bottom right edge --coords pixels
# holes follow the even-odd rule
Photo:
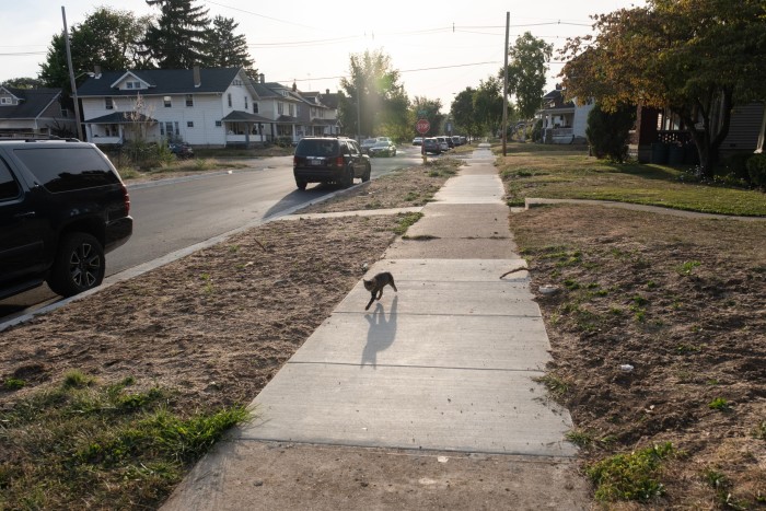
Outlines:
[[[616,454],[590,465],[585,472],[596,487],[596,500],[648,502],[663,495],[662,464],[674,455],[676,450],[666,442],[630,454]]]

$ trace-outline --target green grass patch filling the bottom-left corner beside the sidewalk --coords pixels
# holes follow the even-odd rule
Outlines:
[[[156,508],[243,406],[176,415],[173,395],[79,371],[0,414],[0,509]]]

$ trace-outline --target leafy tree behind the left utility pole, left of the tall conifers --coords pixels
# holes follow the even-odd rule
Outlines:
[[[149,16],[135,16],[129,11],[98,8],[69,31],[72,68],[76,74],[103,70],[129,69],[142,63],[140,44]],[[39,79],[46,86],[61,88],[70,93],[69,67],[63,35],[55,34],[48,46]],[[84,74],[78,80],[84,80]]]

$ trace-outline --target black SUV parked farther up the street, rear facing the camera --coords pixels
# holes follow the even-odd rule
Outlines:
[[[304,138],[298,142],[292,159],[292,173],[300,189],[309,183],[336,183],[348,188],[355,177],[370,181],[371,172],[370,156],[362,154],[350,138]]]

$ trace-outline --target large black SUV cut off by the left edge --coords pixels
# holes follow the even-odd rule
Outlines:
[[[104,280],[132,234],[128,190],[94,144],[0,140],[0,299],[44,281],[70,297]]]

